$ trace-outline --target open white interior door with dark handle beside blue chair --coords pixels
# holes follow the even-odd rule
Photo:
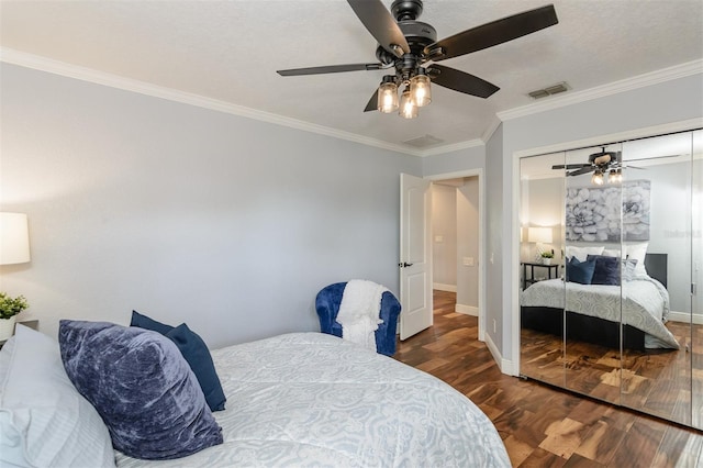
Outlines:
[[[400,338],[432,326],[429,180],[400,175]]]

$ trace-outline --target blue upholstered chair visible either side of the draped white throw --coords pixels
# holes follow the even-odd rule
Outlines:
[[[337,323],[336,317],[346,286],[346,281],[335,282],[324,287],[317,293],[315,309],[320,317],[320,331],[322,333],[342,337],[342,325]],[[400,310],[401,305],[395,296],[390,291],[383,292],[380,311],[380,319],[383,323],[379,324],[376,331],[376,350],[379,354],[392,356],[395,353],[395,328]]]

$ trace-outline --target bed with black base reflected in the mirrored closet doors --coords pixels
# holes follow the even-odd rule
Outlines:
[[[670,348],[679,344],[665,326],[669,313],[667,254],[645,256],[647,275],[621,286],[580,285],[562,279],[539,281],[521,293],[522,327],[601,346],[628,349]],[[622,298],[622,300],[621,300]]]

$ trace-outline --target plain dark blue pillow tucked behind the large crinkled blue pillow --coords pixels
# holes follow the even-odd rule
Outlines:
[[[215,371],[215,365],[212,363],[212,356],[205,342],[196,332],[192,332],[185,323],[174,327],[136,311],[132,311],[130,325],[158,332],[176,343],[176,346],[178,346],[178,349],[196,375],[210,410],[224,410],[224,403],[227,399],[224,397],[222,383]]]

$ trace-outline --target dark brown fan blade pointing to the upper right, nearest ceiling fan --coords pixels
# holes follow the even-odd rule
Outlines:
[[[482,51],[557,24],[554,5],[536,8],[464,31],[425,47],[432,59],[445,60]],[[442,51],[438,52],[438,48]]]

